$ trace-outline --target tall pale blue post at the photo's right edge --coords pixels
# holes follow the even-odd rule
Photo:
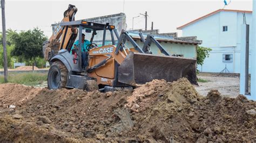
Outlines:
[[[251,96],[247,98],[256,101],[256,0],[253,0],[252,9]]]

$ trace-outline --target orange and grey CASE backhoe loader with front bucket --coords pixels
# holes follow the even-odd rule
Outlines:
[[[141,48],[129,33],[123,30],[120,35],[114,25],[75,20],[77,8],[69,5],[64,18],[52,37],[44,42],[44,58],[49,61],[48,88],[78,88],[87,91],[112,90],[114,88],[136,87],[137,84],[153,79],[172,82],[186,77],[197,84],[196,59],[171,56],[153,35],[147,35]],[[106,32],[111,44],[106,45]],[[82,34],[91,34],[87,45],[87,61],[82,61]],[[95,36],[102,33],[99,42]],[[78,35],[78,38],[77,38]],[[74,41],[78,39],[78,49],[71,52]],[[117,40],[115,40],[117,39]],[[132,47],[127,47],[130,42]],[[152,44],[157,45],[163,56],[150,52]],[[72,53],[72,54],[71,54]],[[82,62],[87,67],[82,68]]]

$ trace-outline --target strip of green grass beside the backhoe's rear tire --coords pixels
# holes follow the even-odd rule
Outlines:
[[[19,74],[9,74],[8,82],[9,83],[18,83],[24,85],[37,85],[47,81],[46,73],[19,73]],[[4,83],[4,76],[0,76],[0,83]]]

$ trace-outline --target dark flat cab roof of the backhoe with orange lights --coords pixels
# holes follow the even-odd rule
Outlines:
[[[69,27],[79,27],[83,26],[85,28],[91,28],[93,30],[104,30],[104,27],[106,26],[106,29],[113,30],[114,26],[106,24],[100,24],[100,23],[93,23],[93,22],[86,22],[84,20],[76,20],[72,22],[64,22],[60,23],[60,26],[69,26]]]

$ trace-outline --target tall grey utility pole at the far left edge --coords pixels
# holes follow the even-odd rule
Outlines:
[[[8,69],[7,69],[7,52],[6,52],[6,30],[5,30],[5,11],[4,11],[4,0],[1,0],[2,8],[2,25],[3,25],[3,48],[4,48],[4,82],[7,82]]]

